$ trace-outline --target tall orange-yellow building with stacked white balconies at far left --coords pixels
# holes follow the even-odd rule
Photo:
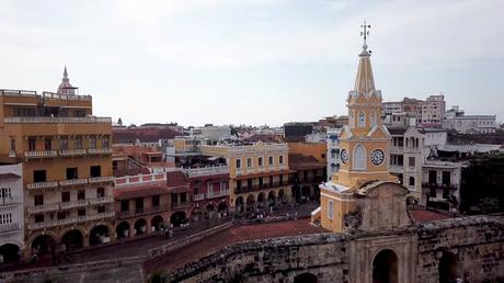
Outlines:
[[[115,238],[112,121],[92,115],[92,98],[0,90],[0,162],[23,163],[25,256]]]

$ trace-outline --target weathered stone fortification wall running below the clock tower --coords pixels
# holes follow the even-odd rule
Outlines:
[[[404,229],[319,234],[238,244],[170,274],[186,282],[294,282],[301,273],[319,282],[371,282],[377,251],[398,256],[402,282],[439,282],[443,254],[455,254],[465,282],[504,280],[504,216],[472,216]],[[368,257],[368,258],[366,258]]]

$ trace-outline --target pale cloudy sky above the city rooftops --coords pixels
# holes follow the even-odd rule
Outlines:
[[[0,0],[0,88],[56,91],[127,124],[345,114],[362,38],[386,101],[443,92],[504,120],[502,0]]]

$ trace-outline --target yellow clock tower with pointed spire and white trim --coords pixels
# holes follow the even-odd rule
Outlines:
[[[370,181],[398,182],[388,171],[390,134],[381,123],[381,91],[375,89],[370,52],[359,54],[355,86],[347,97],[348,125],[343,127],[341,169],[321,185],[321,206],[312,213],[321,226],[344,230],[344,217],[356,207],[356,191]]]

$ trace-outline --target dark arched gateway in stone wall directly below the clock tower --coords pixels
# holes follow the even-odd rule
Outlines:
[[[398,283],[398,257],[386,249],[373,260],[373,283]]]

